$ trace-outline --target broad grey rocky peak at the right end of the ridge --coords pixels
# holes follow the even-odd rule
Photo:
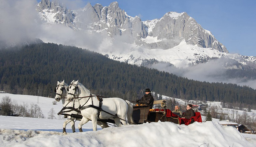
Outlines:
[[[140,42],[149,48],[169,49],[179,45],[183,40],[187,44],[203,48],[214,48],[228,53],[226,47],[219,43],[210,31],[204,30],[196,20],[186,12],[167,12],[160,19],[143,21],[149,36],[157,37],[157,42]]]

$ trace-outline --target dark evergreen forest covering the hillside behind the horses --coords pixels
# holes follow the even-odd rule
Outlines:
[[[142,97],[141,90],[150,88],[185,100],[256,103],[256,90],[247,86],[190,80],[82,48],[40,43],[1,50],[0,90],[53,98],[63,79],[68,84],[78,79],[91,93],[125,100]]]

